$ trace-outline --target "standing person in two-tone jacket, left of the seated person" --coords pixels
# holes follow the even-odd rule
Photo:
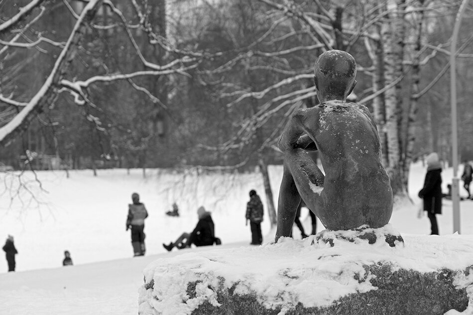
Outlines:
[[[126,218],[126,230],[131,229],[131,246],[134,256],[143,256],[146,252],[144,246],[144,219],[148,217],[148,211],[139,202],[139,195],[131,195],[132,204],[128,205],[128,217]]]

